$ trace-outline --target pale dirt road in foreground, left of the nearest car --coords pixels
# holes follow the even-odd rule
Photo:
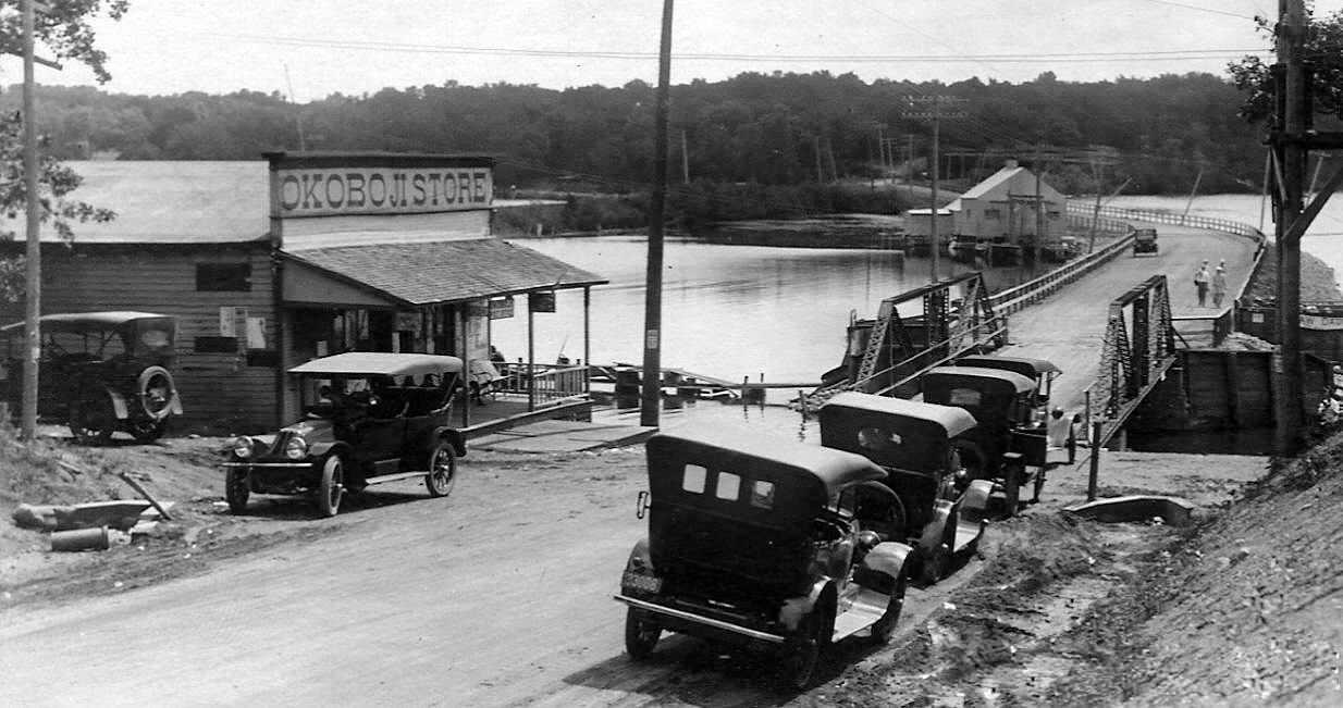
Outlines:
[[[407,484],[377,495],[398,503],[305,522],[338,526],[312,543],[78,605],[12,609],[0,615],[0,676],[20,680],[0,683],[0,704],[775,703],[768,668],[749,658],[682,638],[651,665],[624,656],[611,594],[642,532],[642,451],[466,464],[449,499]],[[270,519],[302,507],[254,504],[248,524],[289,523]],[[912,590],[901,628],[958,585]],[[861,656],[841,652],[842,664]]]

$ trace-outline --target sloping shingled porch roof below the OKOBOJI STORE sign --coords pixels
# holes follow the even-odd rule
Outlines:
[[[607,280],[501,239],[314,248],[286,257],[407,304],[474,300]]]

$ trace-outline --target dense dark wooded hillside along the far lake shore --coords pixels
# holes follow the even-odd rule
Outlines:
[[[943,174],[967,184],[997,169],[1003,157],[1030,164],[1044,154],[1049,157],[1039,166],[1057,186],[1092,190],[1093,172],[1078,158],[1095,146],[1119,153],[1119,164],[1105,170],[1107,189],[1132,178],[1129,192],[1186,193],[1199,172],[1201,189],[1209,192],[1253,188],[1261,178],[1261,130],[1237,115],[1245,95],[1210,74],[1072,83],[1046,72],[1018,84],[976,78],[866,83],[829,72],[701,79],[673,88],[673,173],[681,177],[684,134],[696,182],[795,185],[870,177],[881,165],[878,130],[900,141],[896,157],[912,135],[915,170],[921,172],[929,126],[904,113],[908,97],[929,94],[968,99],[968,118],[941,126],[941,148],[951,156]],[[16,101],[9,91],[0,97],[0,109]],[[133,97],[44,87],[39,118],[63,157],[248,160],[299,146],[483,152],[498,156],[501,185],[535,186],[563,177],[571,185],[620,192],[638,190],[649,180],[651,107],[653,87],[643,82],[556,91],[450,80],[336,94],[302,106],[254,91]]]

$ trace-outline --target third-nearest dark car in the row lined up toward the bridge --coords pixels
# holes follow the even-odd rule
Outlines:
[[[956,438],[960,461],[971,479],[1001,485],[1006,512],[1021,504],[1021,488],[1045,485],[1048,440],[1037,414],[1035,382],[1021,374],[980,366],[937,366],[923,375],[923,400],[963,408],[975,428]]]

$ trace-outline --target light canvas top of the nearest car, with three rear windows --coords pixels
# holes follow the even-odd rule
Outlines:
[[[771,477],[792,476],[799,481],[804,477],[815,479],[823,485],[825,497],[847,484],[886,476],[884,469],[861,455],[802,442],[759,440],[721,430],[658,433],[649,438],[646,447],[650,475],[657,464],[663,461],[678,460],[721,468],[724,460],[736,460],[768,467]],[[819,501],[823,503],[825,499]]]

